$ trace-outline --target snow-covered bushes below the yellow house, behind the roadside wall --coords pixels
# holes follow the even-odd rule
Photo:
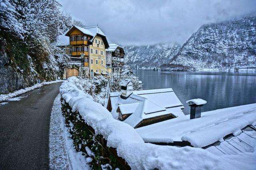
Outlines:
[[[68,81],[76,85],[77,88],[90,94],[95,102],[104,105],[108,80],[104,76],[94,76],[92,79],[79,79],[74,76],[68,78]]]

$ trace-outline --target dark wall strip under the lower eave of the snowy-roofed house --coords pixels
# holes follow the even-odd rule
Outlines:
[[[134,128],[140,128],[142,126],[147,126],[147,125],[150,125],[150,124],[162,122],[162,121],[169,120],[169,119],[172,119],[172,118],[175,118],[175,116],[173,116],[172,114],[165,114],[165,115],[162,115],[162,116],[147,118],[147,119],[142,120]]]

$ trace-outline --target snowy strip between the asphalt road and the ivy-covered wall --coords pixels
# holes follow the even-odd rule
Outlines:
[[[68,128],[64,125],[60,94],[54,100],[50,119],[49,148],[51,170],[90,170],[86,157],[76,152]]]

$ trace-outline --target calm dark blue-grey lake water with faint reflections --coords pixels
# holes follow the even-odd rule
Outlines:
[[[216,110],[256,103],[255,72],[158,72],[134,70],[142,80],[143,89],[172,88],[184,104],[186,100],[202,98],[207,101],[202,111]]]

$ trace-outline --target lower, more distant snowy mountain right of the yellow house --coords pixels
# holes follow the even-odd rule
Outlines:
[[[158,68],[170,63],[180,50],[180,45],[156,44],[148,46],[124,46],[126,64],[132,68]]]

